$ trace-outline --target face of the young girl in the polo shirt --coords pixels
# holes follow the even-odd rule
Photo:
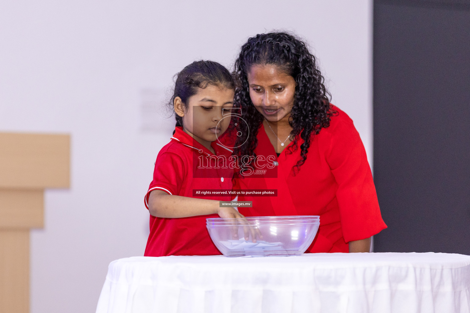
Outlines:
[[[177,106],[179,101],[180,106]],[[183,130],[200,144],[209,147],[230,124],[234,90],[207,85],[188,99],[186,109],[175,99],[175,112],[183,117]]]

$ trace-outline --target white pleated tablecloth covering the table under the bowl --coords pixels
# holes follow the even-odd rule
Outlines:
[[[110,263],[96,313],[470,313],[470,256],[312,253]]]

